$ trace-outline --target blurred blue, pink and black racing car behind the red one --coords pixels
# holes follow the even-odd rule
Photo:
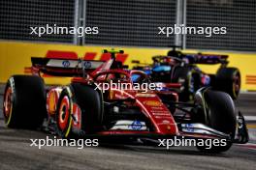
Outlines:
[[[166,56],[152,57],[152,64],[138,64],[135,70],[143,70],[151,76],[154,82],[180,83],[179,97],[187,101],[202,87],[211,86],[213,90],[228,93],[232,99],[238,99],[240,94],[240,70],[229,68],[227,55],[188,54],[171,50]],[[220,64],[215,74],[202,71],[197,65]]]

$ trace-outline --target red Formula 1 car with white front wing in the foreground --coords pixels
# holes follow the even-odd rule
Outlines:
[[[67,138],[225,139],[225,146],[198,146],[201,151],[216,153],[227,151],[234,142],[247,142],[244,119],[240,114],[237,122],[233,100],[225,93],[203,88],[194,103],[184,103],[178,102],[172,91],[110,88],[103,92],[103,87],[113,82],[131,87],[150,83],[143,71],[122,69],[115,61],[115,51],[105,52],[112,54],[107,62],[32,58],[34,75],[14,75],[7,82],[3,102],[6,125],[44,127]],[[39,76],[42,72],[73,79],[66,86],[46,88]]]

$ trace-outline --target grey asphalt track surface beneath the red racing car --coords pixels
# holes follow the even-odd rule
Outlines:
[[[1,92],[0,102],[2,103]],[[253,116],[256,116],[256,94],[241,94],[236,105],[245,116],[249,116],[248,127],[252,140],[245,146],[234,145],[231,150],[221,155],[202,154],[192,147],[166,150],[134,145],[85,147],[81,150],[76,147],[43,147],[39,150],[38,147],[30,147],[30,139],[46,139],[48,134],[5,128],[3,120],[0,119],[0,170],[255,170],[256,145],[253,143],[256,127]]]

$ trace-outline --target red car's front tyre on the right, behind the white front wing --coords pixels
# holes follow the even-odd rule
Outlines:
[[[208,90],[204,93],[207,108],[207,119],[204,124],[209,128],[216,129],[230,135],[230,140],[222,142],[221,146],[198,146],[197,148],[206,153],[221,153],[230,149],[236,133],[236,114],[233,99],[224,92]]]

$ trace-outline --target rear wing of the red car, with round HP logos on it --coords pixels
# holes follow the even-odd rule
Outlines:
[[[82,76],[100,68],[105,62],[82,59],[54,59],[31,57],[33,74],[43,72],[53,76]],[[27,70],[27,68],[26,68]]]

